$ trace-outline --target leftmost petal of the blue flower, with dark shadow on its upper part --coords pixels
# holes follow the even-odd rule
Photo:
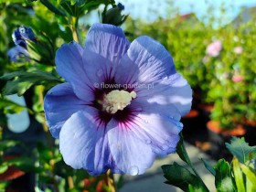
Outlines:
[[[59,84],[49,90],[45,97],[44,110],[52,136],[59,138],[63,124],[74,112],[85,109],[85,104],[85,101],[75,95],[69,83]]]

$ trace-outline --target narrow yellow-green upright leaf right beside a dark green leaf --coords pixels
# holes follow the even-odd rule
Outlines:
[[[234,177],[235,177],[235,181],[236,181],[238,191],[239,192],[245,192],[245,187],[244,187],[244,184],[243,184],[243,176],[242,176],[242,172],[240,170],[239,160],[237,158],[234,158],[233,162],[232,162],[232,165],[233,165],[233,173],[234,173]]]

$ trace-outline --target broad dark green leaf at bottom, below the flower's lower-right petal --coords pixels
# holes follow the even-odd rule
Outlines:
[[[166,184],[179,187],[184,191],[189,191],[189,185],[196,191],[208,191],[204,188],[201,180],[190,173],[187,168],[182,165],[178,165],[176,162],[174,165],[162,165],[164,176],[167,179]]]

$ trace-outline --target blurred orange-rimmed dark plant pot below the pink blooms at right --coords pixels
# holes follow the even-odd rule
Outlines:
[[[219,126],[218,121],[209,121],[208,127],[208,140],[211,144],[210,154],[215,158],[231,157],[225,143],[228,143],[232,136],[244,136],[246,133],[245,128],[242,125],[237,125],[234,129],[223,129]]]

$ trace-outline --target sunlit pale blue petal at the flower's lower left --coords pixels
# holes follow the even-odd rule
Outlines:
[[[63,125],[59,134],[59,149],[67,165],[84,168],[92,176],[112,169],[112,157],[105,127],[97,122],[97,112],[76,112]]]

